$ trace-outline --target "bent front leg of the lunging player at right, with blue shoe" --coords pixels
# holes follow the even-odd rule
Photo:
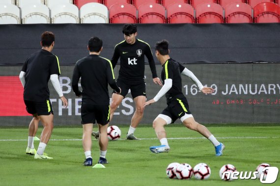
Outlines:
[[[162,114],[159,114],[158,117],[153,122],[153,128],[155,130],[155,133],[157,134],[158,139],[161,142],[160,146],[150,147],[150,151],[153,153],[164,153],[170,150],[170,147],[168,145],[168,140],[167,140],[167,134],[164,126],[172,123],[172,119],[168,115],[163,114],[166,111],[167,109],[165,109],[162,112]]]

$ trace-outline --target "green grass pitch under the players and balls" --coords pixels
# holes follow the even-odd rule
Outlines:
[[[45,150],[54,159],[34,159],[25,154],[28,128],[0,128],[0,186],[261,186],[259,180],[220,180],[219,170],[233,164],[238,171],[254,171],[260,163],[280,169],[280,125],[206,125],[225,145],[224,155],[215,157],[210,141],[183,125],[166,127],[169,153],[153,154],[149,146],[159,145],[151,126],[140,126],[141,140],[125,140],[129,126],[119,126],[122,137],[110,141],[104,169],[84,167],[82,126],[55,127]],[[96,126],[94,126],[96,130]],[[42,127],[39,128],[39,137]],[[92,140],[93,163],[99,159],[97,140]],[[38,147],[35,141],[35,148]],[[171,162],[207,163],[208,180],[171,180],[166,168]],[[280,185],[280,176],[272,184]]]

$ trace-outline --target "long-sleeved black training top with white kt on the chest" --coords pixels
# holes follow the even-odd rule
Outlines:
[[[128,81],[143,81],[145,72],[144,55],[148,58],[153,78],[157,78],[155,61],[151,48],[147,43],[136,39],[136,42],[132,45],[125,40],[117,44],[111,61],[114,68],[120,57],[118,78]]]

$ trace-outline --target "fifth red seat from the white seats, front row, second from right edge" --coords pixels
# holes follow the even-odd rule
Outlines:
[[[252,7],[243,2],[228,4],[224,8],[225,23],[252,23]]]

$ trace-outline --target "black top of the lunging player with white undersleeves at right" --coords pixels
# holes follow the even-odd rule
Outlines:
[[[169,58],[164,64],[162,69],[162,80],[171,79],[172,87],[166,93],[167,101],[171,101],[174,98],[185,98],[182,93],[182,78],[181,73],[185,67],[175,61],[174,59]]]

